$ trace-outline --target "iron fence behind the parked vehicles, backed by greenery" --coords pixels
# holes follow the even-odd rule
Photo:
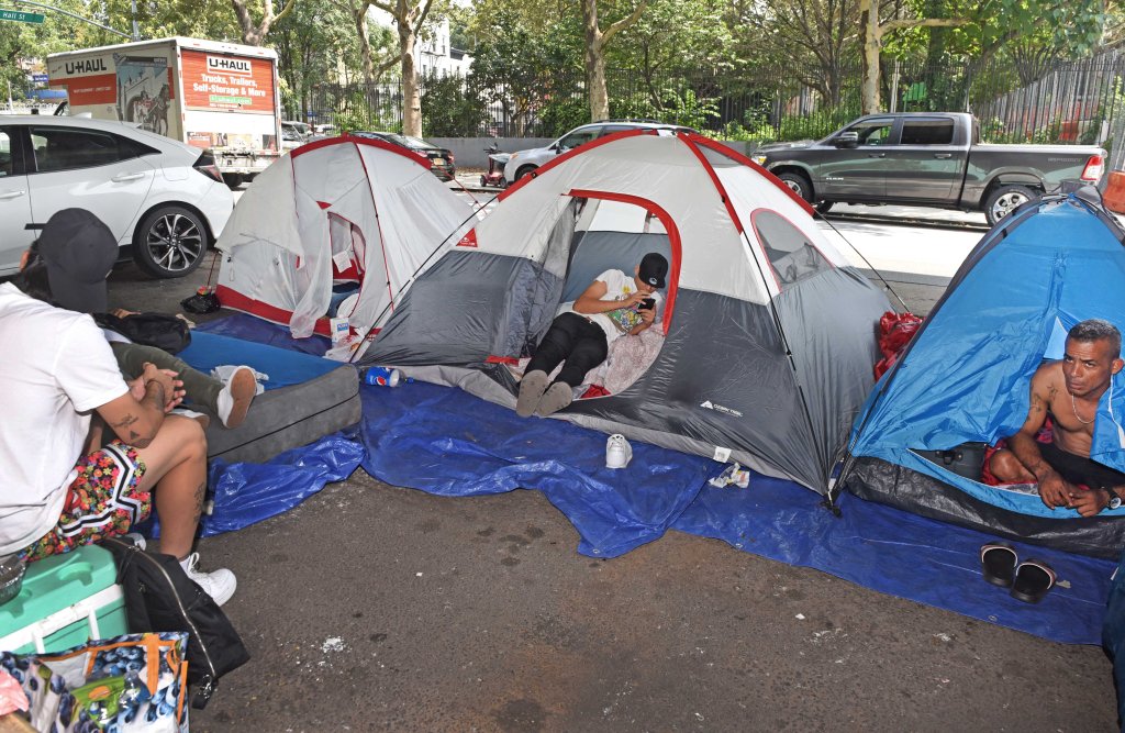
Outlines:
[[[1125,56],[1032,66],[993,62],[927,66],[884,61],[881,99],[891,111],[972,111],[987,142],[1091,143],[1125,163]],[[608,72],[610,115],[657,119],[710,135],[757,143],[819,138],[860,115],[858,66],[801,74],[809,84],[753,71],[646,74]],[[552,137],[588,122],[585,80],[573,70],[542,70],[522,83],[474,77],[421,80],[423,128],[439,137]],[[341,129],[402,125],[397,81],[320,84],[306,108],[289,114]]]

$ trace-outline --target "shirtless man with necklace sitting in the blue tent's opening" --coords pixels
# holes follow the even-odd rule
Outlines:
[[[1044,364],[1032,377],[1024,426],[989,461],[998,480],[1038,483],[1044,504],[1076,509],[1083,517],[1120,506],[1125,474],[1090,459],[1098,401],[1125,366],[1120,347],[1120,331],[1108,321],[1090,319],[1070,330],[1062,360]],[[1038,443],[1035,436],[1047,415],[1053,443]]]

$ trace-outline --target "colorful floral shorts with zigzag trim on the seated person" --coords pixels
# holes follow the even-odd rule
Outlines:
[[[66,489],[58,524],[20,551],[27,562],[124,535],[148,518],[152,494],[137,490],[145,466],[136,448],[114,440],[74,467],[78,476]]]

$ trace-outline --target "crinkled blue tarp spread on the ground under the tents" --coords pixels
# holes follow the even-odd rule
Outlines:
[[[280,327],[227,321],[226,333],[292,348],[277,338]],[[639,443],[629,468],[610,471],[603,433],[523,420],[460,390],[364,386],[361,427],[362,466],[377,479],[442,495],[538,489],[574,524],[584,554],[620,555],[673,528],[1045,638],[1101,640],[1109,561],[1017,545],[1020,557],[1045,560],[1062,581],[1032,606],[981,578],[978,553],[989,535],[850,495],[840,498],[837,518],[808,489],[759,475],[749,489],[712,489],[705,480],[718,464]],[[269,468],[228,475],[232,495],[269,501]]]

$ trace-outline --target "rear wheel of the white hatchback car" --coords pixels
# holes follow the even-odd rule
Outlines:
[[[162,206],[147,216],[133,240],[133,259],[153,277],[183,277],[207,253],[207,227],[182,206]]]

